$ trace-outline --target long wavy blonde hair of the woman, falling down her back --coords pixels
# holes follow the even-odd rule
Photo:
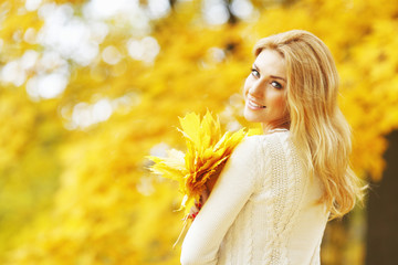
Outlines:
[[[285,60],[287,112],[293,141],[311,176],[323,183],[331,219],[348,213],[363,198],[349,167],[350,128],[338,105],[338,73],[332,53],[314,34],[293,30],[261,39],[254,55],[269,49]]]

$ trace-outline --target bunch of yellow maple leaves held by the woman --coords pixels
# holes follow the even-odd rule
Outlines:
[[[185,209],[186,221],[195,202],[199,202],[206,189],[212,189],[227,159],[247,134],[242,128],[222,135],[219,119],[214,119],[209,112],[202,120],[193,113],[179,120],[181,129],[178,130],[186,140],[187,152],[171,149],[167,158],[148,158],[155,162],[150,171],[179,182],[179,190],[184,194],[179,210]]]

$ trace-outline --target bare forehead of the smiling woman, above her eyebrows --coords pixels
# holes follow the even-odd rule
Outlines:
[[[284,57],[276,51],[264,49],[254,61],[263,75],[275,75],[285,78],[286,66]]]

